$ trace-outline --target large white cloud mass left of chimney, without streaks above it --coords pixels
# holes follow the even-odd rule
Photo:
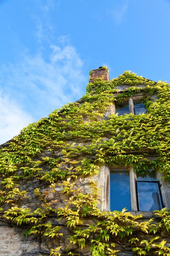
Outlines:
[[[1,95],[2,142],[17,135],[29,122],[82,97],[83,62],[75,48],[51,45],[50,49],[49,56],[25,54],[15,65],[0,68],[0,88],[3,95],[9,95]]]

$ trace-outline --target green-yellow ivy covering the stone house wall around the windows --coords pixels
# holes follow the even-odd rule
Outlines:
[[[126,85],[119,93],[116,86]],[[108,107],[143,93],[147,113]],[[153,96],[157,99],[153,101]],[[156,156],[156,160],[148,157]],[[97,78],[75,103],[30,124],[0,150],[0,216],[43,240],[50,256],[170,256],[170,211],[144,219],[100,211],[96,177],[102,165],[157,168],[170,182],[170,86],[128,71]],[[93,178],[95,177],[95,179]],[[168,240],[169,239],[169,240]]]

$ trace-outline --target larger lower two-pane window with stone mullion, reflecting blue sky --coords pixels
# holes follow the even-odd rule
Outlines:
[[[163,208],[155,170],[134,173],[133,168],[110,171],[110,210],[154,211]]]

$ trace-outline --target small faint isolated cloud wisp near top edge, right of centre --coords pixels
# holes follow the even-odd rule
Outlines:
[[[127,2],[119,7],[115,7],[114,9],[110,10],[110,13],[116,25],[119,25],[124,20],[127,10],[128,10]]]

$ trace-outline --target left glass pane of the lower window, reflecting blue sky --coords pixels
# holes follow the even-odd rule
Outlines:
[[[114,171],[110,173],[110,211],[121,211],[130,205],[130,177],[128,171]]]

